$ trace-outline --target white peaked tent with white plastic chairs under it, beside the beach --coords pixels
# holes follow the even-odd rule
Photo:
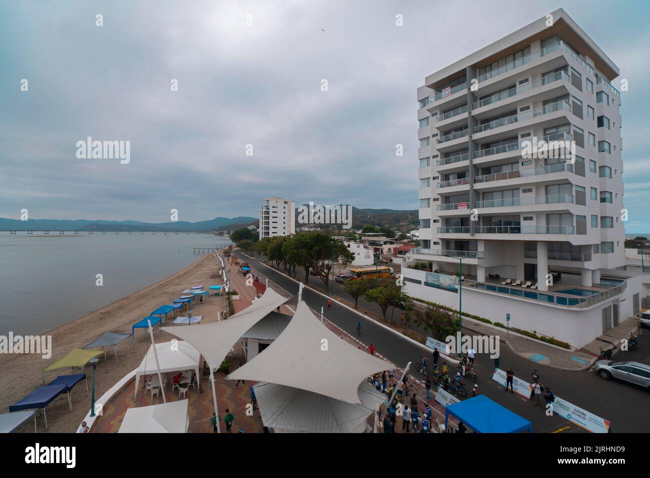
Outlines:
[[[173,342],[161,342],[156,344],[156,352],[158,355],[158,362],[160,364],[161,373],[179,370],[194,370],[196,371],[196,380],[199,380],[199,360],[201,354],[187,342],[174,340]],[[153,346],[149,346],[147,355],[142,359],[142,363],[135,373],[135,394],[138,394],[138,384],[142,375],[153,375],[158,373],[156,368],[156,359],[153,355]]]

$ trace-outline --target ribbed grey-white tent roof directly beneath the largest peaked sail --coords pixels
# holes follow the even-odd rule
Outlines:
[[[361,405],[274,383],[258,383],[254,390],[266,427],[300,433],[362,433],[386,399],[367,382],[358,388]]]

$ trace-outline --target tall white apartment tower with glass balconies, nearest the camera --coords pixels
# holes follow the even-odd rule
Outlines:
[[[440,273],[462,257],[476,283],[498,275],[541,292],[548,273],[588,288],[625,265],[619,69],[564,10],[551,16],[417,90],[421,247],[411,257]],[[575,162],[525,155],[534,138],[575,142]]]

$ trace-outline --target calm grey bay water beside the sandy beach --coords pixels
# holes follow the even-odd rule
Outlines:
[[[183,270],[202,257],[194,247],[229,244],[196,233],[0,232],[0,334],[43,333]]]

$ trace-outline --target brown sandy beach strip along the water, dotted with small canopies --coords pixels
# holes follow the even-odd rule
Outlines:
[[[50,364],[64,357],[73,348],[81,348],[92,342],[105,332],[131,333],[131,327],[142,318],[149,315],[152,310],[161,305],[173,303],[174,299],[180,296],[183,290],[195,285],[222,284],[219,275],[221,263],[214,254],[207,254],[197,262],[181,270],[174,275],[162,279],[134,294],[122,297],[106,307],[88,312],[68,323],[64,323],[55,329],[45,332],[42,335],[52,336],[52,357],[42,359],[41,355],[0,355],[0,412],[8,412],[9,405],[12,405],[27,396],[37,386],[43,385],[41,371]],[[212,278],[211,278],[212,277]],[[37,299],[37,298],[36,298]],[[34,298],[29,298],[34,300]],[[210,303],[211,301],[211,303]],[[29,307],[28,307],[29,310]],[[202,315],[201,323],[216,321],[217,312],[226,310],[224,296],[211,296],[209,301],[200,303],[193,308],[193,315]],[[187,312],[183,312],[187,315]],[[164,325],[164,320],[162,321]],[[172,325],[172,319],[167,325]],[[182,327],[177,325],[177,327]],[[168,342],[172,340],[171,334],[158,330],[155,327],[154,339],[156,342]],[[151,341],[145,329],[136,329],[135,345],[127,338],[118,345],[118,364],[113,355],[112,347],[104,347],[107,362],[100,358],[96,370],[95,397],[98,399],[109,390],[129,371],[134,370],[146,354]],[[88,364],[85,368],[88,377],[88,386],[92,386],[92,366]],[[45,383],[53,381],[57,375],[68,375],[70,369],[53,370],[45,373]],[[75,373],[81,373],[75,369]],[[47,432],[49,433],[73,433],[77,431],[79,423],[90,410],[90,392],[86,392],[85,383],[78,383],[73,388],[72,407],[70,412],[66,395],[57,397],[47,407]],[[45,423],[42,416],[38,416],[38,432],[45,432]],[[20,429],[23,432],[34,431],[34,422],[29,421]]]

